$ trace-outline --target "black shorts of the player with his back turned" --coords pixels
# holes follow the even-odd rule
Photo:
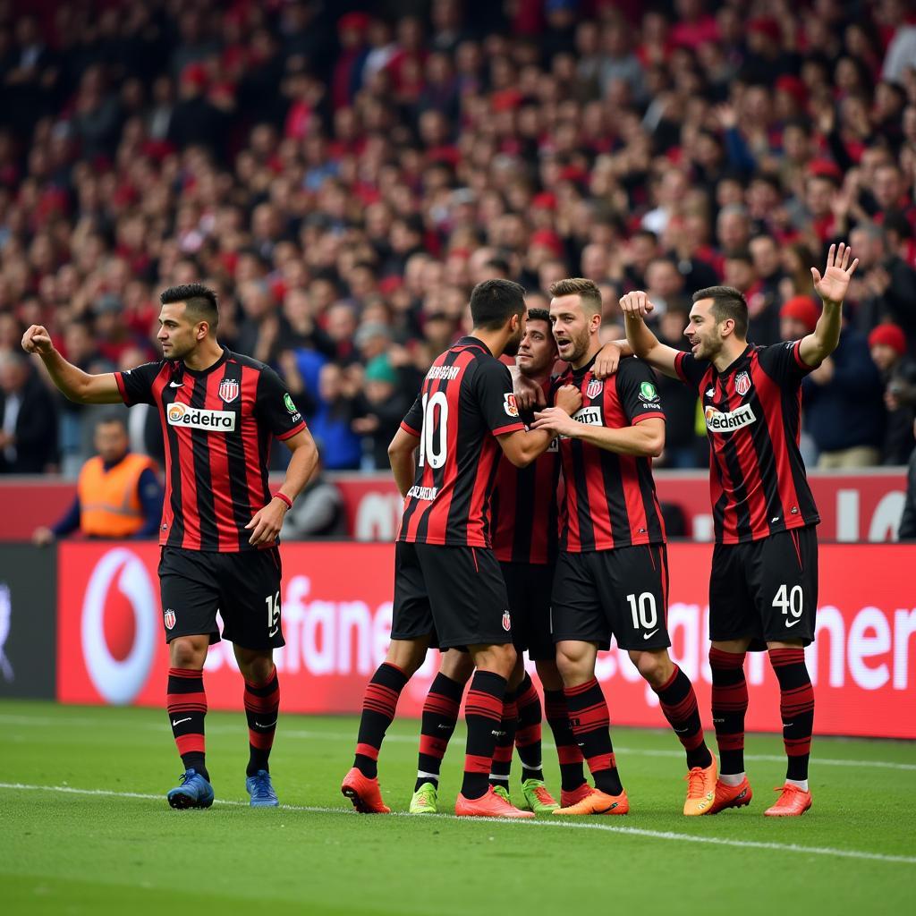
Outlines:
[[[398,541],[391,638],[425,636],[440,649],[512,641],[506,583],[493,551]]]

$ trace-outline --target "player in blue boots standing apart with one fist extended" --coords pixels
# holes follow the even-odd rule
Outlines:
[[[283,516],[317,460],[311,434],[279,376],[216,340],[219,311],[198,283],[160,297],[157,339],[163,358],[127,372],[88,375],[68,363],[49,333],[33,324],[22,345],[37,353],[54,384],[80,404],[158,409],[166,443],[166,494],[159,544],[162,618],[169,643],[167,705],[184,764],[169,791],[173,808],[209,808],[213,786],[204,755],[207,697],[203,662],[223,636],[234,644],[245,679],[249,761],[245,788],[253,807],[275,806],[267,758],[279,709],[273,649],[280,628]],[[271,437],[292,452],[286,480],[267,488]]]

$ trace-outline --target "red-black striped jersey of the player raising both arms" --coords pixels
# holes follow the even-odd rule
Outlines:
[[[703,400],[718,543],[759,540],[821,520],[799,452],[802,378],[812,371],[800,343],[748,344],[722,373],[689,353],[675,358],[678,376]]]

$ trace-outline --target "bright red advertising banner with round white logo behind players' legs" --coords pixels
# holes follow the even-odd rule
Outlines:
[[[365,682],[385,656],[394,551],[383,544],[290,544],[282,548],[283,632],[276,653],[283,707],[291,713],[357,713]],[[674,660],[709,715],[707,586],[712,549],[670,547],[669,629]],[[158,602],[158,548],[145,543],[62,544],[59,563],[58,698],[64,703],[164,703],[168,652]],[[807,650],[821,735],[916,738],[916,547],[822,545],[815,644]],[[256,613],[260,612],[256,608]],[[420,714],[438,653],[401,697],[398,714]],[[232,647],[206,666],[213,709],[242,709]],[[599,657],[612,721],[662,726],[655,694],[625,653]],[[779,691],[766,653],[748,655],[749,731],[779,731]]]

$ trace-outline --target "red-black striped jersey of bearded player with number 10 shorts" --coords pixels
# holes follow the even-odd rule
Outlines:
[[[575,385],[582,407],[573,419],[623,429],[642,420],[665,419],[655,376],[638,359],[620,363],[616,374],[600,381],[592,375],[594,359],[572,367],[556,387]],[[652,460],[599,449],[579,439],[560,439],[566,507],[560,549],[569,553],[609,551],[634,544],[661,544],[665,526],[655,495]]]

